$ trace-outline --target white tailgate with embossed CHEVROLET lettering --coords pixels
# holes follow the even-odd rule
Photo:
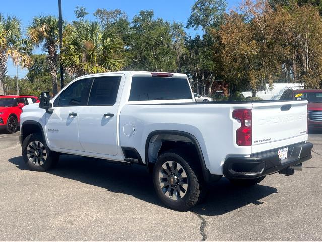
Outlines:
[[[252,153],[307,140],[307,101],[253,102]]]

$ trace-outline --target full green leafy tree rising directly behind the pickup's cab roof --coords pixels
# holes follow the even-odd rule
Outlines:
[[[140,11],[132,20],[126,43],[125,68],[128,70],[177,70],[171,25],[153,16],[153,10]]]

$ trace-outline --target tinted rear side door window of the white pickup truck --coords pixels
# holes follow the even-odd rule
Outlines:
[[[114,105],[120,81],[120,76],[94,78],[88,105]]]

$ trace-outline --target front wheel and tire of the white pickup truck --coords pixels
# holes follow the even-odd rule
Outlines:
[[[33,171],[47,171],[59,160],[59,155],[49,150],[39,134],[26,137],[22,145],[22,157],[28,168]]]

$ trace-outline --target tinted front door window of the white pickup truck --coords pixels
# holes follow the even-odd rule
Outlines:
[[[86,88],[89,79],[81,79],[66,88],[55,100],[54,106],[81,106],[86,104]],[[58,105],[57,105],[58,104]]]

